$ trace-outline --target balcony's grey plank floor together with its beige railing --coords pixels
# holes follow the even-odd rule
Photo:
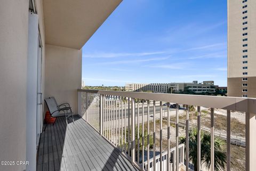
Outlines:
[[[172,105],[175,109],[170,108],[171,102],[176,102]],[[255,157],[255,147],[250,146],[255,142],[251,136],[256,122],[252,114],[256,111],[255,103],[256,99],[239,97],[78,89],[79,115],[75,116],[74,123],[69,121],[67,125],[64,118],[58,118],[41,134],[37,170],[193,170],[186,153],[192,127],[211,133],[211,163],[214,162],[212,142],[215,136],[220,136],[226,141],[227,170],[233,170],[230,169],[231,145],[245,148],[245,168],[250,170],[250,159]],[[192,123],[189,108],[181,108],[181,104],[197,106],[197,125]],[[204,107],[210,108],[209,130],[201,125]],[[219,135],[214,129],[217,119],[214,109],[227,112],[226,134]],[[231,133],[231,111],[244,112],[245,139]],[[179,120],[181,115],[186,115],[185,123]],[[185,127],[185,144],[179,142],[181,127]],[[171,129],[175,129],[175,133]],[[153,137],[151,143],[150,136]],[[198,153],[201,145],[197,143]],[[201,162],[197,166],[205,170]],[[214,170],[213,165],[210,170]]]

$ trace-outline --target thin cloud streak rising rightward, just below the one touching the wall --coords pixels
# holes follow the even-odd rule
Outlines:
[[[140,63],[140,62],[149,62],[149,61],[162,61],[166,60],[169,57],[164,58],[149,58],[149,59],[139,59],[139,60],[122,60],[122,61],[111,61],[111,62],[102,62],[102,63],[95,63],[96,65],[109,65],[109,64],[129,64],[129,63]]]

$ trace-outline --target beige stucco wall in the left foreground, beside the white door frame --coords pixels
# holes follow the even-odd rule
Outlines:
[[[25,0],[0,5],[0,161],[26,160],[28,6]]]

